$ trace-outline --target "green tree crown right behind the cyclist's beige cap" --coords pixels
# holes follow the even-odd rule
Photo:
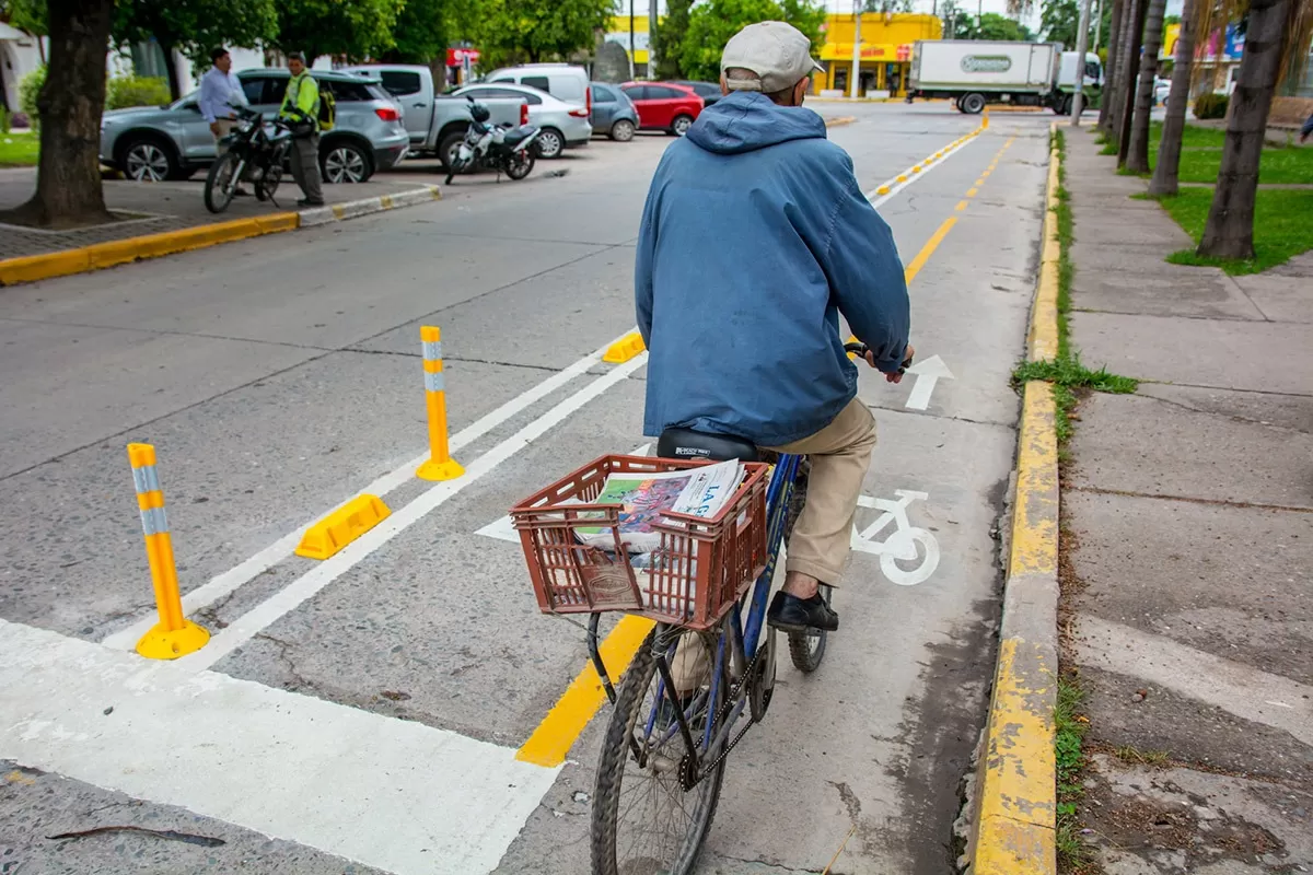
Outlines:
[[[693,7],[688,31],[679,47],[679,63],[689,79],[716,81],[721,77],[721,52],[730,37],[758,21],[788,21],[811,41],[825,22],[826,8],[813,0],[706,0]]]

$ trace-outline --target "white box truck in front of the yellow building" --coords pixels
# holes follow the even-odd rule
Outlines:
[[[1062,88],[1060,72],[1070,55],[1070,83]],[[1086,96],[1096,97],[1100,79],[1098,55],[1086,55]],[[1091,72],[1094,76],[1091,77]],[[964,113],[977,114],[987,104],[1048,106],[1070,112],[1075,89],[1075,52],[1058,42],[976,39],[922,39],[913,46],[909,97],[947,97]],[[1092,101],[1091,101],[1092,102]]]

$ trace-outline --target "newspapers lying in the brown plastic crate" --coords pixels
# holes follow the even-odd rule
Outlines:
[[[660,546],[655,525],[663,514],[714,517],[734,496],[743,475],[737,459],[683,471],[612,474],[595,504],[618,504],[621,543],[629,552],[649,552]],[[576,529],[575,535],[586,544],[614,544],[605,526]]]

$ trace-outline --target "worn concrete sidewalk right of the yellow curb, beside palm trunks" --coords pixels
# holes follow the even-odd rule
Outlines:
[[[1313,253],[1169,265],[1146,184],[1066,138],[1071,345],[1142,380],[1083,400],[1062,474],[1078,871],[1313,872]]]

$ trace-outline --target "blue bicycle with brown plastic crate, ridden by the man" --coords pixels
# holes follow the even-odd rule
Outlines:
[[[859,356],[867,352],[861,344],[848,344],[844,349]],[[910,359],[903,362],[903,367],[910,363]],[[696,865],[716,815],[726,758],[747,731],[765,718],[771,704],[777,644],[775,630],[765,623],[765,610],[780,547],[805,500],[805,457],[781,454],[773,467],[759,464],[762,451],[750,442],[683,429],[667,430],[656,455],[658,459],[646,462],[737,458],[756,471],[744,480],[743,499],[727,513],[722,512],[725,529],[708,529],[704,538],[721,554],[731,554],[716,572],[733,575],[729,571],[733,565],[739,572],[752,568],[755,575],[747,572],[730,581],[730,597],[723,603],[704,596],[696,615],[658,622],[634,655],[618,691],[601,661],[597,626],[603,610],[632,610],[641,603],[637,584],[628,565],[626,582],[613,565],[580,558],[570,531],[578,525],[571,519],[575,513],[599,513],[614,505],[592,505],[586,500],[578,509],[565,508],[583,491],[583,483],[595,484],[591,497],[596,497],[600,471],[580,470],[512,510],[516,529],[529,533],[524,539],[525,554],[540,607],[546,613],[590,613],[588,656],[613,706],[592,800],[592,875],[688,875]],[[618,460],[635,466],[642,462]],[[758,488],[764,492],[760,499],[764,533],[752,531],[758,525],[752,510],[760,510],[752,504],[758,501],[752,497]],[[616,513],[611,512],[612,522],[618,519]],[[687,537],[692,538],[693,522],[685,518],[683,525],[689,529],[670,529],[689,531]],[[754,539],[759,535],[758,544]],[[716,540],[721,537],[725,543]],[[616,550],[622,550],[618,533]],[[693,559],[695,555],[702,559]],[[654,572],[642,613],[672,613],[670,600],[678,596],[670,584],[680,569],[685,582],[697,577],[699,585],[706,585],[708,575],[695,573],[692,565],[712,555],[714,551],[695,554],[684,546],[668,550],[663,558],[667,567],[659,573],[664,577]],[[554,575],[557,582],[545,582]],[[565,585],[559,584],[562,576],[570,579]],[[634,589],[635,598],[629,606],[625,606],[626,585]],[[823,585],[821,594],[829,603],[832,590]],[[804,673],[815,672],[825,657],[826,632],[807,630],[789,632],[786,638],[794,666]]]

